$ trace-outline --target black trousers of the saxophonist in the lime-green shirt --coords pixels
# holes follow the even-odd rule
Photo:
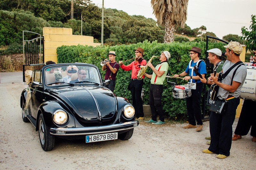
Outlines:
[[[164,110],[162,107],[163,85],[151,84],[149,89],[149,106],[151,108],[152,120],[156,121],[157,114],[160,121],[164,122]]]

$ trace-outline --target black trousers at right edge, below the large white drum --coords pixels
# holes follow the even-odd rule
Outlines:
[[[251,136],[256,137],[256,114],[255,108],[256,101],[244,100],[244,104],[236,125],[236,135],[247,135],[251,129]]]

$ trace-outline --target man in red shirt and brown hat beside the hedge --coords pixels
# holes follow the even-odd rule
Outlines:
[[[120,67],[124,71],[132,70],[132,80],[128,86],[128,90],[132,93],[132,105],[135,109],[135,115],[138,120],[144,120],[144,113],[143,113],[143,101],[141,99],[141,91],[143,86],[143,78],[137,79],[137,74],[140,70],[140,65],[145,66],[147,61],[142,58],[144,55],[143,48],[137,48],[135,51],[135,61],[130,63],[129,65],[124,65],[122,61],[119,61]]]

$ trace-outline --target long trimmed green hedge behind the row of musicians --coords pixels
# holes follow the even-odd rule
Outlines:
[[[199,47],[202,50],[202,55],[200,59],[205,59],[205,46],[206,43],[201,42],[173,42],[173,43],[158,43],[153,41],[143,41],[142,43],[130,44],[130,45],[119,45],[111,47],[92,47],[92,46],[61,46],[57,48],[58,54],[58,63],[73,63],[73,62],[82,62],[82,63],[91,63],[96,65],[100,71],[101,75],[104,78],[105,72],[101,70],[100,61],[108,58],[107,54],[110,50],[116,52],[116,61],[125,61],[135,56],[134,49],[140,47],[144,49],[144,59],[147,61],[153,56],[160,56],[161,51],[169,51],[171,58],[168,61],[169,69],[168,73],[171,75],[183,72],[189,61],[189,52],[193,46]],[[214,42],[208,44],[208,49],[219,48],[221,51],[225,51],[223,43]],[[125,65],[128,65],[132,61],[128,61]],[[156,66],[159,63],[158,59],[153,59],[152,64]],[[146,71],[148,74],[152,74],[150,68]],[[168,75],[167,73],[167,75]],[[209,70],[210,73],[210,70]],[[116,79],[116,88],[115,94],[117,96],[122,96],[128,100],[132,99],[131,92],[127,90],[127,86],[131,79],[131,71],[124,71],[121,68],[117,73]],[[184,85],[187,82],[182,81],[181,79],[170,79],[169,81],[175,82],[177,85]],[[145,78],[143,88],[145,89],[144,104],[148,104],[148,94],[150,87],[150,79]],[[164,82],[164,91],[162,98],[164,111],[171,119],[184,119],[187,117],[186,109],[186,100],[185,99],[175,99],[172,97],[172,85],[170,83]]]

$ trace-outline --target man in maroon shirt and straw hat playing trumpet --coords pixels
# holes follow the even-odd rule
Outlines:
[[[116,74],[119,70],[119,64],[116,62],[116,52],[115,51],[109,51],[108,59],[104,60],[104,65],[102,66],[102,70],[106,70],[105,74],[105,80],[110,80],[108,84],[105,86],[114,92],[116,87]]]

